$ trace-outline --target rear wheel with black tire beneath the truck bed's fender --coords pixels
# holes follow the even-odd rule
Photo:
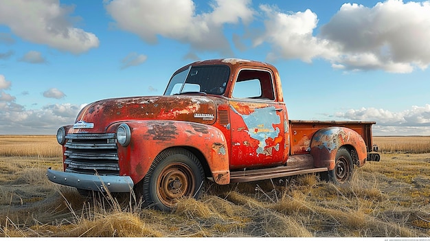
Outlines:
[[[328,181],[337,185],[345,185],[352,179],[354,164],[347,148],[341,147],[337,150],[335,169],[328,171]]]

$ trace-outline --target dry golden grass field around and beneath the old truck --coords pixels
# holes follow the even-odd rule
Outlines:
[[[3,237],[430,237],[430,137],[374,137],[381,161],[348,187],[317,175],[207,183],[199,200],[163,213],[132,195],[82,198],[50,183],[55,136],[0,136]],[[282,181],[282,182],[280,182]]]

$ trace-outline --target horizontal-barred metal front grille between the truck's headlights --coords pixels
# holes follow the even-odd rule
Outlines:
[[[66,139],[66,172],[120,174],[115,133],[69,134]]]

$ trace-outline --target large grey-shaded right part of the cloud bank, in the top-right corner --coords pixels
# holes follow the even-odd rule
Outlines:
[[[388,0],[367,8],[345,3],[320,38],[340,47],[332,58],[344,69],[409,73],[430,64],[430,2]]]

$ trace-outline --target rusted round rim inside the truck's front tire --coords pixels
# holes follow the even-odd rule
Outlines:
[[[191,196],[194,192],[195,176],[184,163],[167,165],[157,179],[157,195],[161,203],[172,207],[178,198]]]

